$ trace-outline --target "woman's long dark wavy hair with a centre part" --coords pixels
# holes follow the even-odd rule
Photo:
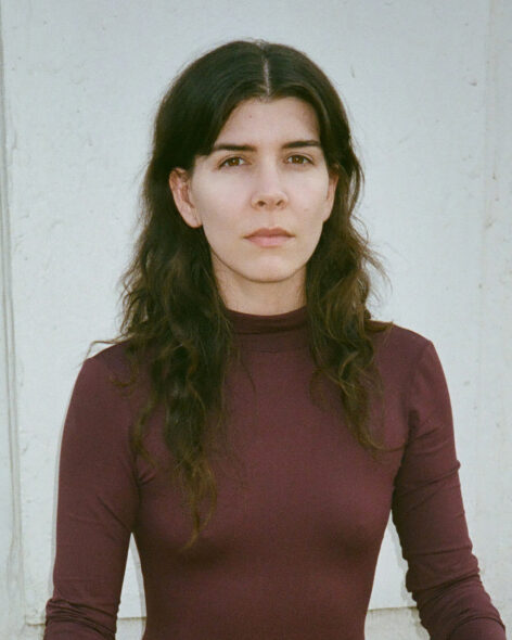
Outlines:
[[[338,387],[346,423],[362,447],[373,457],[389,450],[368,424],[367,383],[382,397],[371,334],[393,322],[372,320],[366,306],[368,267],[387,277],[354,225],[363,174],[345,108],[325,74],[292,47],[264,40],[217,47],[190,63],[159,104],[141,191],[141,230],[121,277],[119,334],[91,343],[125,345],[131,374],[128,381],[117,380],[119,386],[133,385],[141,364],[146,368],[150,393],[132,425],[131,446],[154,465],[158,463],[143,443],[144,425],[156,407],[165,409],[163,435],[172,460],[168,471],[183,489],[193,523],[182,550],[196,541],[217,504],[208,457],[216,443],[226,443],[225,374],[238,351],[204,231],[183,221],[168,178],[174,168],[190,171],[197,155],[209,154],[242,101],[286,97],[315,108],[327,165],[338,176],[331,216],[306,267],[313,379],[327,375]],[[207,497],[209,511],[202,520],[200,505]]]

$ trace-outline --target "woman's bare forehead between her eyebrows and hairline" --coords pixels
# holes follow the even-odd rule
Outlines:
[[[271,101],[249,99],[230,114],[217,137],[218,142],[265,139],[318,138],[319,125],[313,107],[298,98]]]

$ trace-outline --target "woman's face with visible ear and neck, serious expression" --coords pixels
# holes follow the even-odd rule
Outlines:
[[[203,226],[228,308],[272,315],[305,304],[306,264],[334,202],[315,110],[297,98],[238,105],[192,175],[169,176],[176,206]],[[260,229],[285,236],[255,240]]]

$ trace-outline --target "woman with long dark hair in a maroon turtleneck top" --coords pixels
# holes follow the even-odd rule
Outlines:
[[[366,308],[361,180],[295,49],[230,42],[170,87],[120,334],[66,417],[47,640],[114,638],[131,533],[144,640],[362,640],[389,512],[431,637],[504,639],[434,345]]]

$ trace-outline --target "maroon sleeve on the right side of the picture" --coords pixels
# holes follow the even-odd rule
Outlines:
[[[431,341],[411,377],[409,438],[392,517],[408,563],[406,588],[432,640],[505,640],[479,578],[459,481],[451,404]]]

